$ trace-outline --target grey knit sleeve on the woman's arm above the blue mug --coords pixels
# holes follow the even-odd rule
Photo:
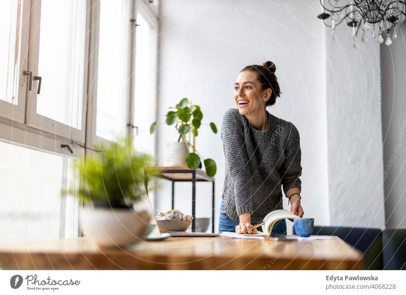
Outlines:
[[[282,165],[282,185],[283,191],[287,196],[287,192],[292,188],[301,189],[301,151],[299,131],[293,124],[287,127],[286,146],[285,146],[285,162]]]

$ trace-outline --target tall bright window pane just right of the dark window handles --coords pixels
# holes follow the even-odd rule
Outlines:
[[[55,13],[58,10],[63,13]],[[37,95],[37,114],[76,129],[82,128],[83,120],[85,28],[86,2],[41,1],[40,30],[36,32],[40,35],[38,75],[43,77],[43,87]],[[56,95],[59,107],[55,107]]]

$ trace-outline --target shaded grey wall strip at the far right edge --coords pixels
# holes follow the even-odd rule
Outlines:
[[[406,228],[406,23],[390,47],[381,47],[384,187],[387,228]]]

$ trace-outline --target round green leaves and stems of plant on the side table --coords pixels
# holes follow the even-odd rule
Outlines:
[[[197,169],[200,164],[201,155],[195,149],[195,138],[197,137],[198,129],[202,125],[203,113],[200,110],[200,106],[192,104],[187,98],[183,98],[175,107],[170,107],[167,112],[165,123],[167,125],[174,125],[178,130],[179,138],[182,139],[189,150],[189,154],[186,157],[186,164],[190,169]],[[210,128],[214,133],[217,133],[216,124],[210,122]],[[158,127],[158,122],[151,124],[150,133],[153,134]],[[186,135],[191,133],[193,140],[190,142],[187,140]],[[214,176],[217,171],[216,162],[213,159],[204,159],[206,173],[208,176]]]

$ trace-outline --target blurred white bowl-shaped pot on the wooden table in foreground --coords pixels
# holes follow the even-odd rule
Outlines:
[[[136,244],[150,228],[148,211],[121,208],[85,207],[80,212],[83,235],[98,246],[125,246]]]

